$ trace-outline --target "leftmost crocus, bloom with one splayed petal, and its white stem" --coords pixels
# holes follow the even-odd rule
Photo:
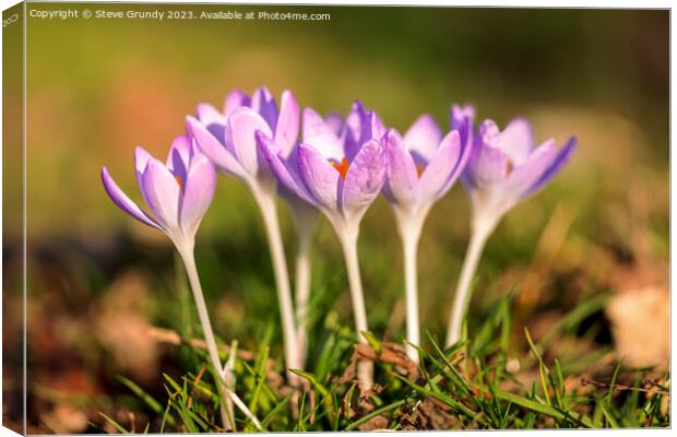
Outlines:
[[[142,147],[136,147],[135,172],[139,190],[152,214],[142,210],[120,189],[106,167],[102,168],[104,189],[118,208],[141,223],[162,231],[176,246],[193,292],[210,359],[217,374],[228,379],[218,358],[193,255],[195,233],[212,202],[216,187],[214,166],[206,156],[195,150],[191,139],[180,135],[171,144],[166,164],[151,156]],[[217,381],[216,386],[222,397],[228,400],[229,409],[230,401],[234,401],[254,424],[258,424],[257,418],[224,381]],[[230,428],[231,411],[226,412],[226,406],[222,405],[221,413],[224,427]],[[260,428],[260,424],[258,426]]]

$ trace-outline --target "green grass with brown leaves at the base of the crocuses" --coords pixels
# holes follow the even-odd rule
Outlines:
[[[270,359],[270,344],[264,340],[253,357],[236,359],[236,390],[265,432],[669,426],[669,375],[650,382],[645,380],[646,369],[627,368],[622,362],[575,375],[562,370],[560,359],[547,362],[544,357],[548,344],[570,335],[567,332],[575,332],[586,308],[598,309],[603,300],[578,305],[560,319],[543,343],[534,342],[525,329],[522,340],[526,347],[511,349],[513,302],[509,294],[494,306],[474,335],[451,349],[442,350],[427,333],[418,350],[418,368],[406,361],[402,345],[368,335],[368,347],[378,356],[377,386],[369,392],[363,391],[346,373],[356,336],[337,324],[330,312],[311,365],[306,370],[294,370],[307,385],[295,390],[281,383],[282,364]],[[204,364],[200,364],[205,363],[204,352],[190,349],[190,354],[194,357],[190,362],[202,367],[187,371],[180,379],[164,375],[164,399],[153,399],[134,382],[120,378],[142,401],[138,404],[140,412],[151,417],[146,430],[222,430],[218,404],[223,400]],[[520,364],[518,371],[514,365],[510,368],[509,361]],[[155,428],[157,421],[153,417],[157,416],[162,422]],[[124,424],[104,417],[117,432],[128,430]],[[256,430],[237,411],[236,427],[239,432]]]

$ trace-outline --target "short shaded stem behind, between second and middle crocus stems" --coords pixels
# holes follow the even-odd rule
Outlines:
[[[297,226],[298,253],[296,253],[296,322],[298,323],[298,363],[306,363],[308,353],[308,300],[310,299],[310,244],[312,228]]]

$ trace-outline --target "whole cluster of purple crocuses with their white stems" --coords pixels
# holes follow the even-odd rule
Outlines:
[[[301,113],[289,91],[282,94],[278,106],[266,88],[257,90],[251,97],[234,91],[223,109],[201,104],[186,123],[188,133],[175,141],[166,164],[142,149],[136,151],[139,187],[153,215],[127,197],[105,167],[102,177],[120,209],[163,231],[175,244],[193,290],[210,359],[224,375],[221,387],[248,416],[230,390],[227,367],[218,361],[192,255],[198,225],[212,201],[216,172],[240,179],[261,211],[275,274],[287,369],[300,369],[306,361],[309,251],[318,211],[332,224],[341,243],[357,339],[366,342],[363,333],[368,331],[368,319],[357,243],[365,213],[383,193],[392,205],[402,243],[407,354],[417,362],[417,247],[433,204],[458,179],[463,181],[472,204],[472,235],[447,338],[447,344],[452,345],[460,340],[471,282],[490,234],[512,206],[559,173],[575,146],[571,139],[559,151],[554,140],[535,147],[531,126],[523,119],[513,120],[502,131],[486,120],[475,131],[475,109],[455,105],[448,131],[423,115],[401,135],[359,101],[345,118],[337,114],[323,117],[311,108]],[[297,228],[295,296],[280,232],[277,194],[290,206]],[[371,363],[358,363],[357,375],[364,386],[372,385],[372,374]],[[295,375],[287,375],[295,383]],[[226,405],[223,414],[227,423],[231,406]]]

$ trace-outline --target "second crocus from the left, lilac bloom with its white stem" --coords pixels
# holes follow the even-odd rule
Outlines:
[[[290,91],[285,91],[278,108],[265,87],[257,90],[251,97],[234,91],[226,97],[223,111],[209,104],[199,105],[198,118],[188,116],[187,128],[218,172],[245,182],[261,211],[275,273],[286,365],[301,368],[287,261],[275,205],[276,180],[259,155],[254,138],[254,132],[263,132],[288,153],[296,144],[299,129],[296,98]],[[287,377],[298,380],[290,371]]]

